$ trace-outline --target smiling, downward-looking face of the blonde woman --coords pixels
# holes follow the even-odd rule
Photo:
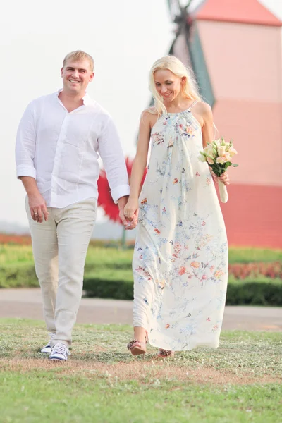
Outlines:
[[[159,69],[154,73],[154,83],[157,92],[163,97],[164,102],[172,102],[181,92],[181,85],[185,82],[185,76],[180,78],[168,69]]]

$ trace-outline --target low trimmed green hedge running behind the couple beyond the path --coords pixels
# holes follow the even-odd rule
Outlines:
[[[38,286],[35,268],[30,262],[0,266],[0,288]],[[88,297],[132,300],[132,271],[111,267],[93,271],[92,266],[86,266],[84,290]],[[230,276],[226,305],[282,306],[282,279],[259,276],[240,280]]]

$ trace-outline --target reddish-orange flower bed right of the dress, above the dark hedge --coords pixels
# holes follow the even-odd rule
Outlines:
[[[245,279],[249,276],[257,278],[265,276],[267,278],[282,278],[281,262],[252,262],[252,263],[236,263],[229,265],[229,274],[235,279]]]

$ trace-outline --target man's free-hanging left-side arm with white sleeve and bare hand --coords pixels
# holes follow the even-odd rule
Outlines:
[[[46,202],[40,194],[36,183],[35,158],[35,118],[32,104],[27,106],[18,125],[16,138],[16,170],[17,177],[22,180],[28,197],[32,219],[42,223],[43,216],[47,220]]]

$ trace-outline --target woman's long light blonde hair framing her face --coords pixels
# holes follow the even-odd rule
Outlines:
[[[177,59],[176,56],[164,56],[154,62],[149,72],[149,90],[152,92],[154,104],[151,109],[148,109],[148,111],[154,114],[157,113],[158,115],[167,113],[163,98],[157,92],[154,82],[154,73],[156,71],[160,71],[161,69],[167,69],[179,78],[185,76],[185,83],[181,85],[181,90],[184,94],[184,97],[191,100],[201,100],[199,91],[197,89],[197,83],[192,71],[186,67],[182,61]]]

